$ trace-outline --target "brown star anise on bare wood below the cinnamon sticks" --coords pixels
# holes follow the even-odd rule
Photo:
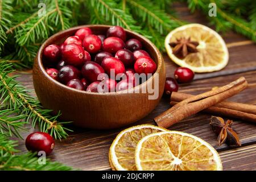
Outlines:
[[[226,122],[221,117],[212,117],[210,121],[210,126],[214,133],[218,135],[218,145],[221,146],[224,142],[229,145],[241,146],[238,134],[234,129],[232,129],[232,120],[227,120]]]

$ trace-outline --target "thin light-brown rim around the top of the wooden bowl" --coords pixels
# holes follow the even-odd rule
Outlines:
[[[37,60],[38,61],[38,65],[39,65],[39,68],[40,70],[43,72],[43,75],[46,76],[49,80],[55,82],[55,84],[65,88],[65,89],[69,89],[69,90],[73,90],[74,92],[79,92],[79,93],[85,93],[85,94],[94,94],[94,95],[115,95],[115,94],[126,94],[126,93],[133,93],[135,89],[139,88],[140,86],[144,86],[147,84],[148,81],[151,81],[154,77],[155,77],[155,73],[159,73],[160,72],[160,69],[162,67],[162,64],[163,64],[163,59],[162,59],[162,55],[159,51],[158,48],[156,48],[156,46],[150,41],[148,40],[147,38],[145,38],[144,36],[134,32],[134,31],[130,31],[130,30],[127,30],[125,29],[126,32],[129,32],[130,34],[134,34],[134,35],[137,35],[139,36],[139,38],[141,38],[144,42],[147,42],[148,44],[150,44],[150,46],[154,49],[154,51],[156,52],[156,57],[158,59],[158,67],[155,71],[155,73],[150,77],[148,78],[147,81],[143,82],[142,84],[140,85],[137,85],[133,88],[130,88],[130,89],[126,89],[126,90],[121,90],[121,91],[118,91],[118,92],[106,92],[106,93],[97,93],[97,92],[87,92],[86,90],[77,90],[75,88],[71,88],[67,85],[64,85],[62,84],[61,82],[57,81],[57,80],[54,80],[51,76],[49,76],[46,72],[46,69],[44,69],[43,67],[43,63],[42,63],[42,59],[41,56],[43,54],[43,48],[46,46],[46,44],[51,41],[51,39],[54,39],[55,37],[59,36],[60,34],[65,34],[65,32],[69,32],[69,31],[72,31],[72,30],[78,30],[79,28],[83,28],[83,27],[112,27],[112,26],[109,26],[109,25],[105,25],[105,24],[86,24],[86,25],[82,25],[82,26],[76,26],[76,27],[72,27],[72,28],[68,28],[67,30],[63,30],[63,31],[60,31],[60,32],[57,32],[56,34],[53,34],[52,36],[50,36],[43,44],[42,46],[39,48],[38,50],[38,54],[36,55],[37,57]],[[131,92],[131,90],[133,89],[133,91]]]

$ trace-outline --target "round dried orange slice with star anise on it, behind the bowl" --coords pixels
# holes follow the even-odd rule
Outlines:
[[[180,38],[191,38],[191,41],[199,43],[197,52],[189,53],[184,58],[175,56],[169,43]],[[172,30],[166,36],[164,45],[172,61],[194,72],[219,71],[228,64],[229,53],[224,40],[216,31],[202,24],[186,24]]]

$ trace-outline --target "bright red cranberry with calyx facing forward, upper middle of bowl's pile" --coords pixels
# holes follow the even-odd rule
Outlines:
[[[82,46],[89,53],[96,53],[101,49],[101,39],[97,35],[88,35],[84,38]]]

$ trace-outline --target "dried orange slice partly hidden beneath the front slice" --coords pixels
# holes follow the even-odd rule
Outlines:
[[[110,167],[117,171],[136,171],[134,155],[137,143],[143,137],[159,131],[167,130],[154,125],[138,125],[121,131],[110,146]]]

